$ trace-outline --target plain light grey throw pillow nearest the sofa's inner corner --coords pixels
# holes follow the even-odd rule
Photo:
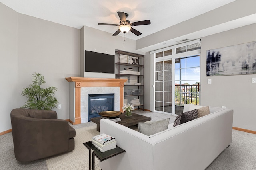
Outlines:
[[[158,120],[158,121],[148,121],[148,122],[139,122],[138,128],[139,132],[143,133],[144,135],[153,135],[155,133],[164,131],[168,129],[170,118]]]

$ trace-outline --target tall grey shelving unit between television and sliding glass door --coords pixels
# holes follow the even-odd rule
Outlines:
[[[127,78],[124,84],[124,104],[144,109],[144,55],[116,51],[116,78]]]

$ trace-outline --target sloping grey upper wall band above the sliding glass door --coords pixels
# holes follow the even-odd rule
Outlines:
[[[175,41],[184,38],[190,39],[190,33],[203,31],[204,29],[208,29],[213,26],[218,26],[229,21],[234,21],[236,19],[255,14],[255,6],[255,0],[236,0],[214,10],[206,12],[202,15],[191,18],[190,20],[183,21],[181,23],[138,39],[136,40],[136,50],[140,50],[145,47],[149,47],[150,45],[155,45],[157,43],[160,43],[162,45],[162,42],[168,41],[170,39],[175,39]],[[218,29],[220,28],[215,27],[215,33],[221,32]],[[224,29],[225,27],[222,27],[222,29],[220,30]],[[183,37],[184,35],[186,36]],[[200,37],[194,37],[194,39],[198,38]],[[172,45],[176,44],[175,41],[173,41],[174,44]],[[163,45],[161,48],[164,48]]]

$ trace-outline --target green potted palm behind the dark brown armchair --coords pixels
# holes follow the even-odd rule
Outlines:
[[[44,89],[41,87],[43,84],[46,84],[44,76],[40,73],[34,73],[32,75],[32,84],[22,89],[21,94],[28,98],[28,101],[20,108],[50,110],[57,106],[58,101],[54,97],[57,88],[48,87]]]

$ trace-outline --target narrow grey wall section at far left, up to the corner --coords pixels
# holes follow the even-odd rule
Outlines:
[[[10,111],[17,107],[18,13],[0,3],[0,133],[11,129]]]

